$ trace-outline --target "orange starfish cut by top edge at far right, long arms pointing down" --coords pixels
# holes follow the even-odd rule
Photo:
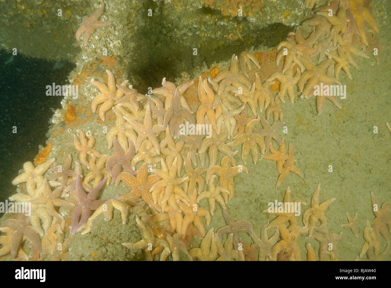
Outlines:
[[[353,18],[355,19],[357,26],[359,28],[362,41],[365,45],[368,45],[368,40],[366,38],[364,21],[366,21],[369,26],[376,32],[379,32],[375,18],[373,18],[369,7],[364,7],[364,0],[351,0],[350,1],[350,12],[352,12]]]

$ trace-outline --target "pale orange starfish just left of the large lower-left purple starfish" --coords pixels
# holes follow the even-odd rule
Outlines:
[[[63,216],[61,216],[59,213],[57,213],[54,206],[75,206],[74,203],[65,201],[63,199],[59,199],[61,196],[61,189],[56,189],[52,192],[52,189],[49,186],[48,181],[45,179],[43,180],[43,183],[41,185],[42,190],[42,196],[35,197],[34,199],[31,199],[31,203],[36,204],[45,204],[47,211],[50,215],[64,219]]]

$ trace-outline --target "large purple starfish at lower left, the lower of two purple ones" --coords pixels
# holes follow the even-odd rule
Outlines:
[[[76,192],[77,202],[79,202],[79,205],[77,205],[75,210],[72,212],[71,234],[75,234],[83,224],[87,223],[87,220],[90,218],[93,210],[96,210],[100,205],[106,202],[106,200],[97,200],[99,191],[106,183],[106,180],[107,177],[103,178],[103,180],[100,181],[90,193],[86,194],[80,183],[80,176],[77,175]]]

